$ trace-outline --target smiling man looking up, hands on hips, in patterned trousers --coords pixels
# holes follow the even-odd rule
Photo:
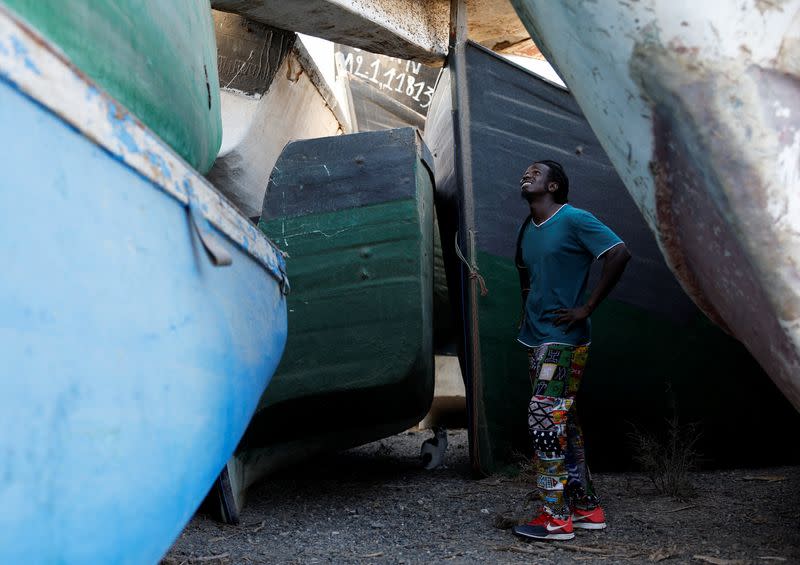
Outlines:
[[[589,352],[589,315],[611,292],[631,258],[622,240],[589,212],[567,204],[569,179],[555,161],[537,161],[520,181],[530,216],[517,240],[523,318],[533,397],[528,427],[536,452],[541,514],[514,527],[521,537],[566,540],[573,528],[602,529],[605,515],[591,483],[575,395]],[[589,269],[603,259],[585,299]]]

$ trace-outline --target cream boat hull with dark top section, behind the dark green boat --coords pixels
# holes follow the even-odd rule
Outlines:
[[[289,141],[347,133],[350,126],[296,34],[235,14],[213,15],[223,136],[207,178],[258,221],[283,147]]]

